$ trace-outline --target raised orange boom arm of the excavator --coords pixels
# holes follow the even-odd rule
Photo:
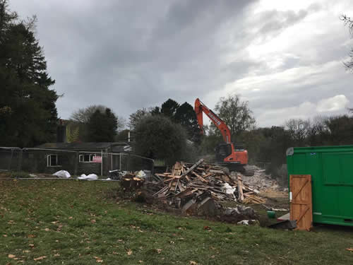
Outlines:
[[[203,112],[210,118],[210,120],[215,124],[215,126],[220,130],[223,139],[225,140],[226,143],[231,143],[231,138],[230,138],[230,130],[225,124],[225,122],[222,121],[220,117],[215,114],[212,110],[210,110],[208,107],[201,102],[198,98],[195,100],[195,112],[196,112],[196,117],[198,119],[198,125],[201,128],[201,131],[203,132]]]

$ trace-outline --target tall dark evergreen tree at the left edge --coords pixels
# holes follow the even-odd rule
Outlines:
[[[0,145],[35,146],[53,141],[58,99],[55,81],[35,39],[35,18],[25,23],[0,0]]]

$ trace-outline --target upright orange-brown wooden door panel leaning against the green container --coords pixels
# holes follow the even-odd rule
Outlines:
[[[310,230],[313,225],[311,175],[289,175],[290,220],[297,220],[297,229]]]

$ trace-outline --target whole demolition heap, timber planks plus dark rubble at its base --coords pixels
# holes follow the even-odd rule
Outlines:
[[[177,162],[171,172],[155,174],[143,189],[153,199],[168,207],[177,208],[186,215],[217,217],[235,223],[256,219],[253,208],[229,208],[220,201],[263,203],[258,191],[242,182],[242,175],[229,175],[222,167],[207,165],[203,160],[196,164]],[[133,177],[133,179],[136,177]]]

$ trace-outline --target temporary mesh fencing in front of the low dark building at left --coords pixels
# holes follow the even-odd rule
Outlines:
[[[59,170],[66,170],[73,176],[107,176],[112,170],[153,173],[154,160],[130,153],[0,147],[0,173],[6,172],[8,177],[30,174],[49,177]]]

